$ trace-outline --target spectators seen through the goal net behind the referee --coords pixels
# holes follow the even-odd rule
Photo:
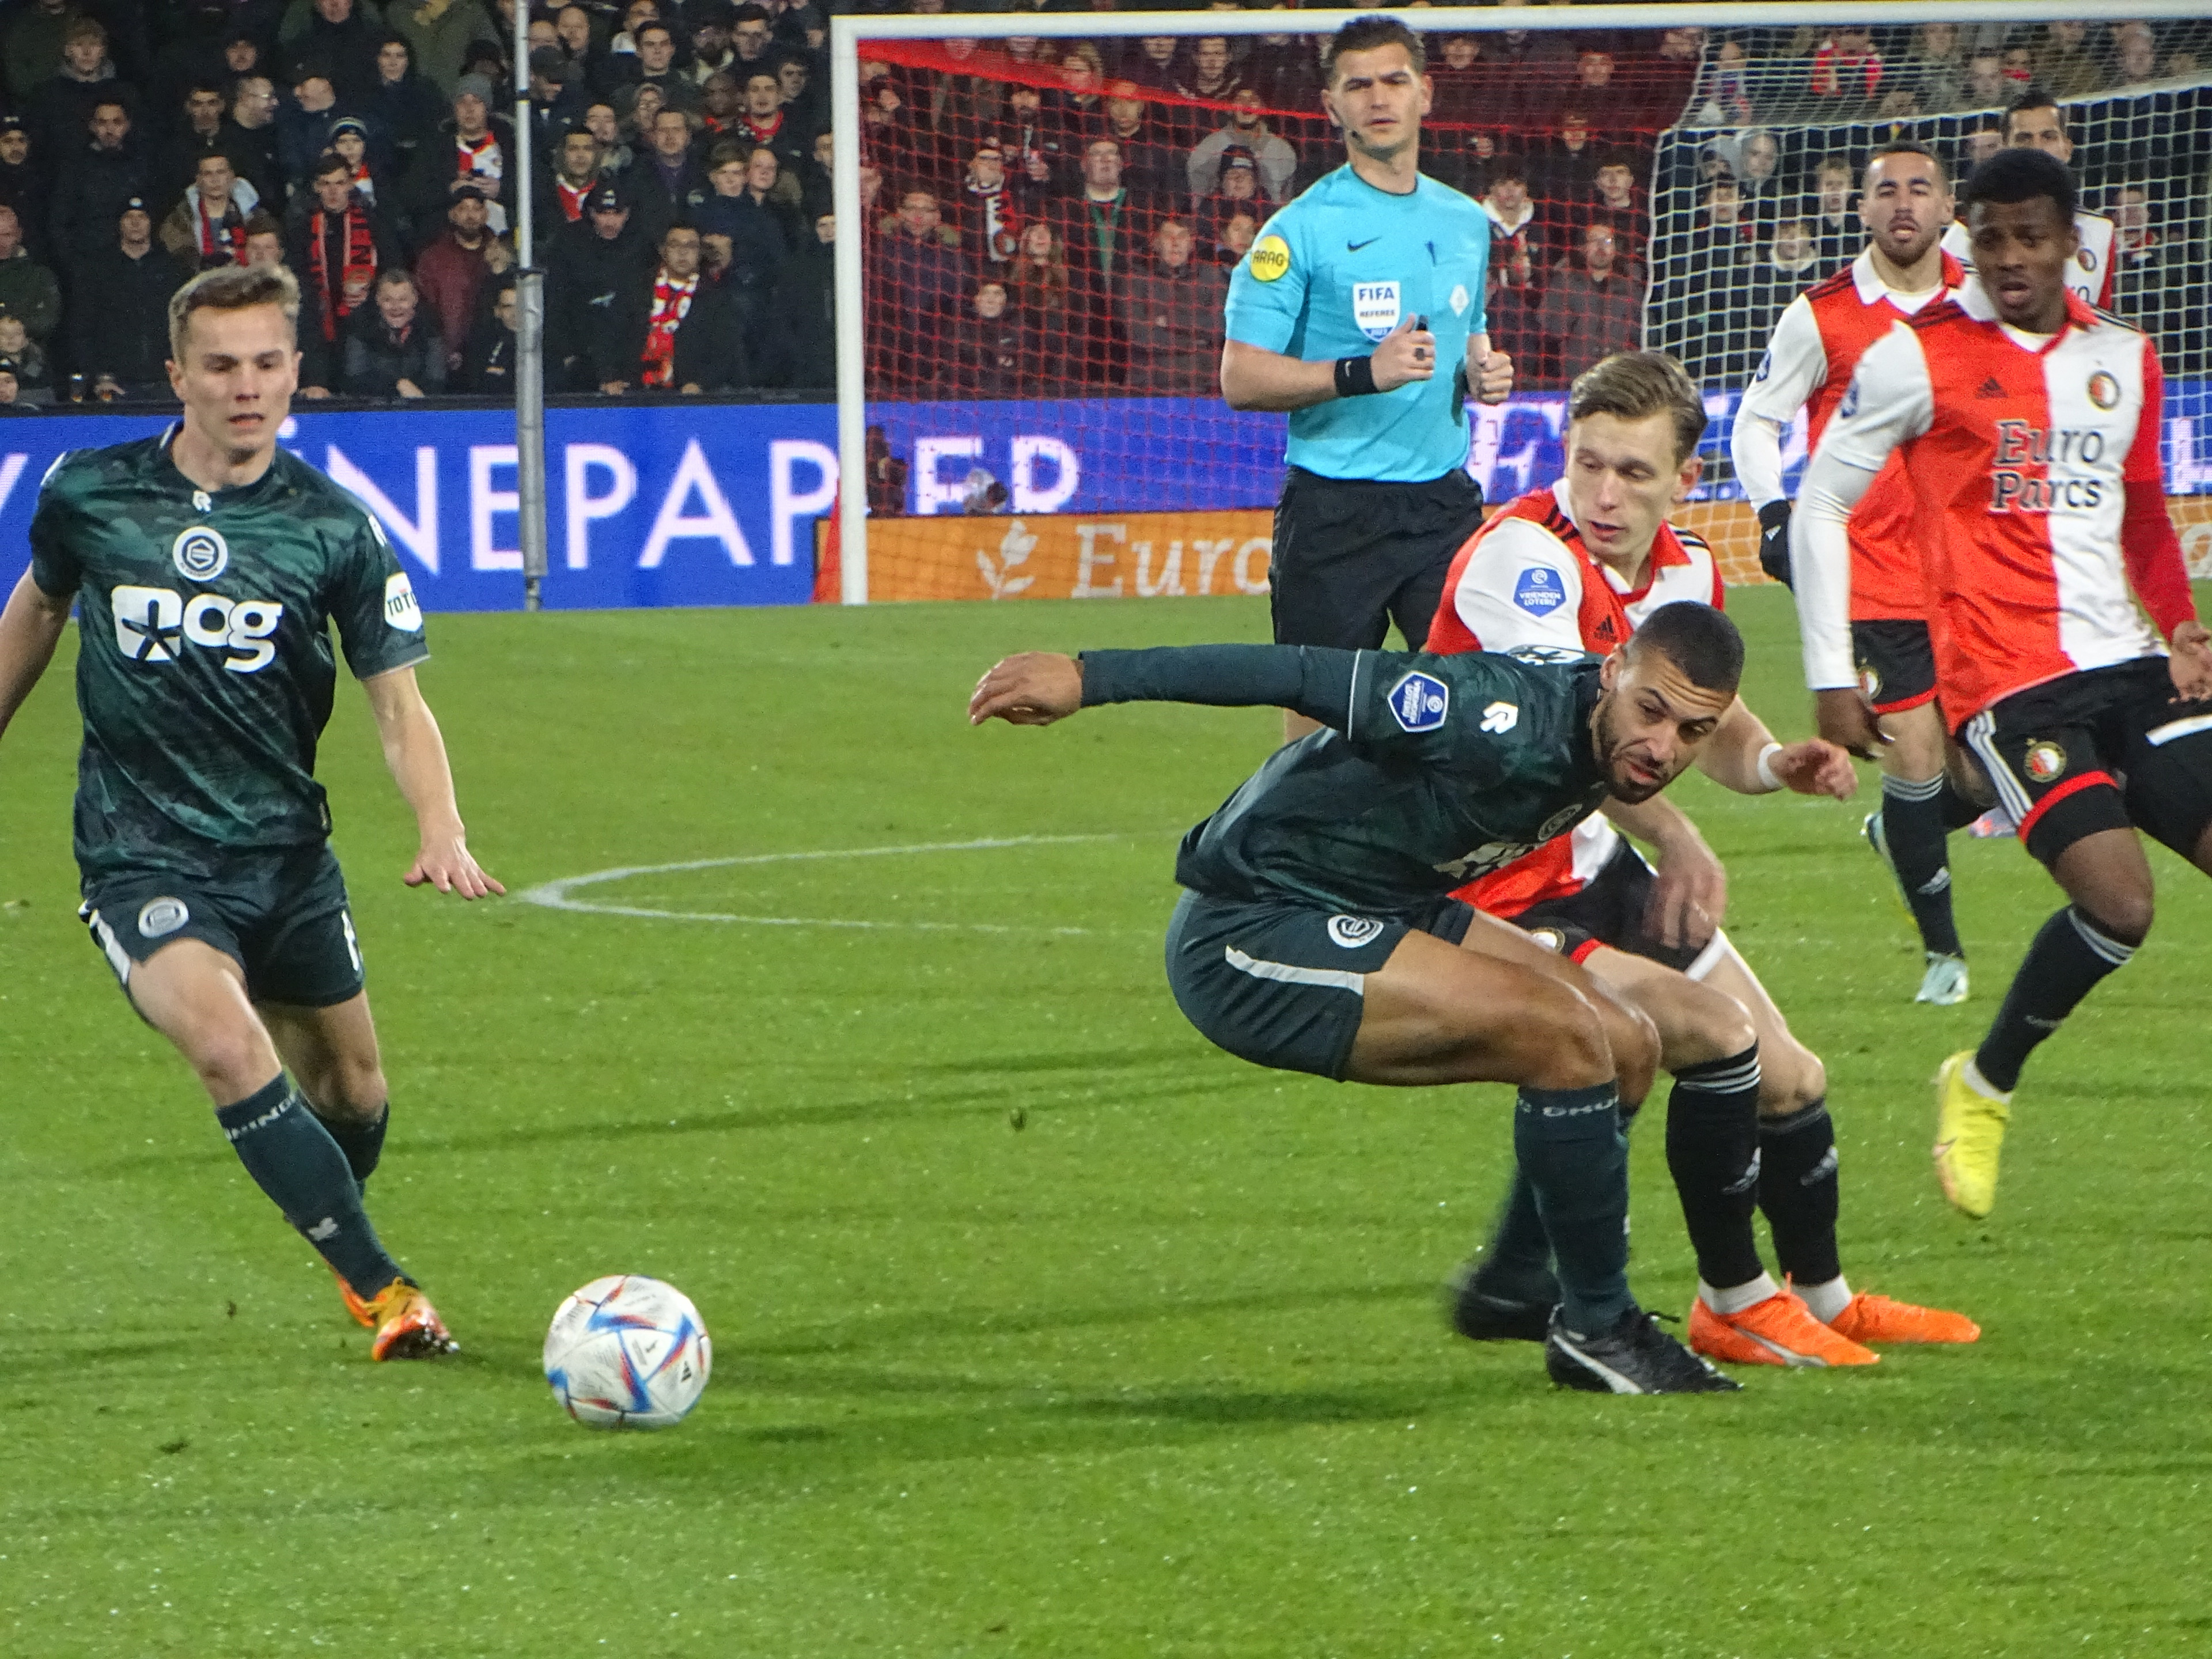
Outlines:
[[[1562,387],[1639,343],[1743,378],[1783,305],[1863,246],[1874,146],[1931,139],[1964,175],[2031,82],[2110,93],[2126,115],[2099,119],[2075,166],[2121,226],[2115,303],[2197,369],[2208,33],[1429,35],[1422,170],[1491,219],[1491,336],[1520,385]],[[1343,161],[1318,115],[1323,44],[1006,38],[865,60],[876,392],[1210,394],[1228,268]]]

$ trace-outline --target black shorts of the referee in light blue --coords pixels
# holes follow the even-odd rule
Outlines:
[[[1427,484],[1323,478],[1292,467],[1274,504],[1267,604],[1279,646],[1376,650],[1396,619],[1420,650],[1444,575],[1482,529],[1482,487],[1464,471]]]

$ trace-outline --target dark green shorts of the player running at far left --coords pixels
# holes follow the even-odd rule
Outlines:
[[[124,993],[131,969],[181,938],[246,969],[246,995],[327,1009],[361,995],[361,942],[327,845],[252,854],[212,876],[124,869],[86,878],[77,916]]]

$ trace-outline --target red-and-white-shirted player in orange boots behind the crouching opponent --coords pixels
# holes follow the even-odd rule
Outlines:
[[[1668,524],[1699,480],[1703,431],[1703,398],[1661,352],[1621,352],[1582,374],[1566,405],[1566,476],[1460,549],[1429,648],[1604,655],[1661,606],[1719,606],[1712,549]],[[1734,699],[1699,765],[1732,787],[1774,790],[1781,748]],[[1659,849],[1657,874],[1615,823]],[[1555,945],[1652,1018],[1659,1064],[1674,1075],[1668,1170],[1697,1252],[1690,1347],[1741,1365],[1871,1365],[1869,1343],[1975,1340],[1969,1318],[1845,1279],[1827,1073],[1721,931],[1725,894],[1697,825],[1652,799],[1608,803],[1453,896]],[[1759,1259],[1754,1208],[1790,1290]],[[1460,1281],[1453,1325],[1475,1340],[1528,1338],[1553,1294],[1542,1217],[1515,1179]]]

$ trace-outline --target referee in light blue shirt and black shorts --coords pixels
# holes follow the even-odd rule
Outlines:
[[[1467,392],[1502,403],[1513,363],[1482,330],[1489,219],[1420,175],[1420,35],[1354,18],[1327,73],[1347,164],[1276,212],[1230,276],[1221,396],[1290,414],[1267,573],[1276,644],[1374,650],[1396,619],[1418,650],[1451,555],[1482,522]],[[1285,717],[1290,737],[1310,730]]]

